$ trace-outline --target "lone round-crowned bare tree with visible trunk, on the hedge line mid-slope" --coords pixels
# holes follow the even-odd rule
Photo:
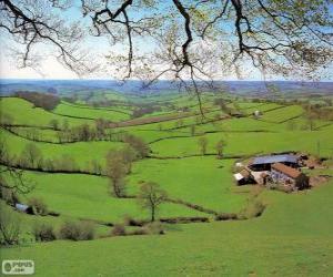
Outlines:
[[[150,212],[151,222],[154,222],[158,208],[167,199],[167,193],[157,183],[147,182],[140,187],[138,199]]]

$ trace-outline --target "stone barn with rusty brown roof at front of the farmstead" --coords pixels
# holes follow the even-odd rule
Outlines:
[[[283,183],[300,189],[309,187],[309,177],[305,174],[282,163],[272,164],[271,178],[274,183]]]

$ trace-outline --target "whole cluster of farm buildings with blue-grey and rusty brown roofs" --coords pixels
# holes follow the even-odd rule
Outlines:
[[[303,189],[309,187],[309,177],[299,170],[301,164],[301,158],[294,154],[258,156],[234,174],[234,178],[238,185],[274,183]]]

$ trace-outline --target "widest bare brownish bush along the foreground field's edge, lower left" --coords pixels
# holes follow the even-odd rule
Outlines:
[[[71,240],[90,240],[94,237],[94,226],[90,222],[65,222],[60,227],[59,237]]]

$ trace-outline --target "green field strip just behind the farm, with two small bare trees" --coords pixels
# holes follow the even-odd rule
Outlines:
[[[280,133],[213,133],[206,134],[208,152],[215,153],[214,145],[221,138],[226,142],[225,155],[249,155],[283,151],[304,151],[317,153],[320,141],[322,153],[332,154],[332,132],[325,131],[294,131]],[[304,140],[305,137],[305,140]],[[158,156],[183,156],[199,154],[198,137],[163,140],[151,144]]]

